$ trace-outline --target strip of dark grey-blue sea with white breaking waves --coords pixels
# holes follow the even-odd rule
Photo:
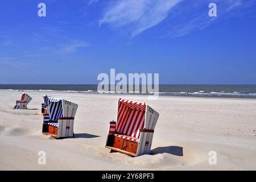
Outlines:
[[[31,84],[0,84],[0,91],[35,91],[35,92],[69,92],[84,94],[122,94],[118,92],[98,92],[98,85],[31,85]],[[126,93],[127,94],[127,93]],[[129,92],[128,94],[142,94]],[[152,93],[148,93],[152,94]],[[232,97],[232,98],[256,98],[256,85],[159,85],[159,96],[184,96],[184,97]]]

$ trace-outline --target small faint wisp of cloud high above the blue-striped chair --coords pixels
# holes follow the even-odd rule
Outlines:
[[[56,53],[73,53],[76,52],[79,48],[90,46],[88,43],[81,40],[71,40],[66,44],[61,44],[60,48]]]

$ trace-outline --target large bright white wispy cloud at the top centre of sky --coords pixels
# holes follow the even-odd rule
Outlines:
[[[108,7],[100,20],[115,28],[130,27],[136,36],[167,18],[172,7],[182,0],[121,0]]]

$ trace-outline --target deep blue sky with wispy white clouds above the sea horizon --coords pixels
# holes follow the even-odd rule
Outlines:
[[[159,73],[160,84],[256,84],[255,4],[1,1],[0,84],[97,84],[110,68]]]

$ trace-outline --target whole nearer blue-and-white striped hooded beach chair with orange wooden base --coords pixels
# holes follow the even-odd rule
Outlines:
[[[43,114],[43,134],[54,138],[73,137],[78,105],[60,98],[48,97],[48,114]]]

